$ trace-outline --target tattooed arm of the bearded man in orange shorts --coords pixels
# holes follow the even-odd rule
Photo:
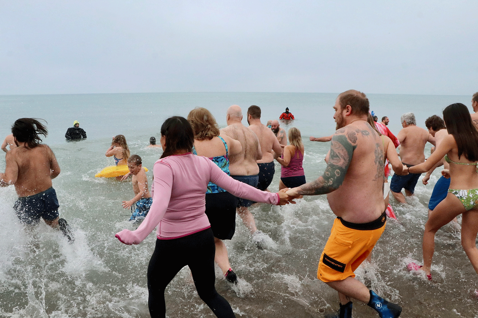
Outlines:
[[[337,130],[330,143],[330,157],[324,174],[315,181],[289,190],[291,193],[287,194],[317,195],[337,190],[344,181],[356,147],[356,131],[346,128]]]

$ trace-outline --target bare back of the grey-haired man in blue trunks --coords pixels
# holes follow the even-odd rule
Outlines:
[[[425,161],[424,149],[427,142],[435,145],[435,138],[416,125],[402,128],[397,138],[400,141],[400,159],[404,164],[412,166]]]

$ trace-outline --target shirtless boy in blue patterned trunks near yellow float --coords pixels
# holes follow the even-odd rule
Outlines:
[[[132,206],[136,205],[134,212],[131,212],[130,221],[144,219],[151,207],[152,198],[148,190],[148,177],[146,176],[144,169],[142,169],[141,157],[138,155],[131,155],[131,157],[128,158],[128,169],[130,172],[124,175],[121,178],[121,181],[126,180],[126,178],[132,174],[133,178],[131,179],[131,183],[135,195],[130,201],[123,201],[121,205],[125,209],[130,209]]]

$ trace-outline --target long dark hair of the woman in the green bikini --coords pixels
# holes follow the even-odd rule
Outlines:
[[[443,119],[446,130],[455,138],[458,159],[463,154],[470,161],[478,161],[478,130],[471,121],[467,106],[462,103],[446,106]]]

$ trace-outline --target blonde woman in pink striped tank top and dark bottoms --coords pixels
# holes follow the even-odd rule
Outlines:
[[[289,130],[288,146],[285,146],[281,158],[276,160],[281,164],[281,180],[279,181],[279,190],[284,188],[295,188],[305,183],[304,168],[304,144],[300,130],[292,127]]]

